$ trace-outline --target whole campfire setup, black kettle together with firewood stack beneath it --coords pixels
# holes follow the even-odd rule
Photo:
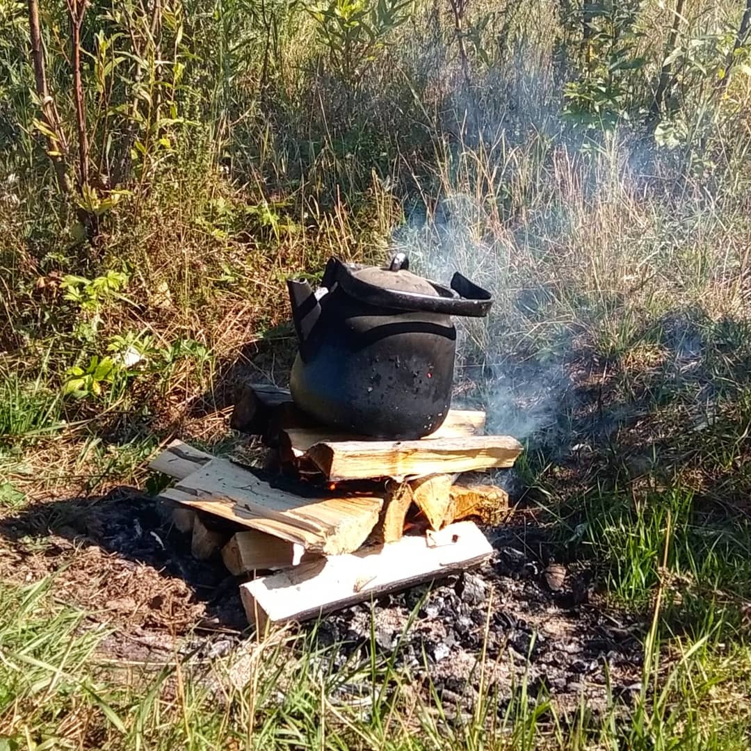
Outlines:
[[[333,259],[319,290],[291,282],[300,337],[291,390],[244,385],[231,418],[260,437],[264,466],[179,441],[152,461],[177,480],[161,496],[194,555],[219,550],[249,580],[240,594],[259,628],[443,578],[492,553],[475,521],[502,521],[508,496],[480,473],[512,466],[522,449],[484,435],[484,412],[450,408],[448,318],[484,315],[492,301],[460,275],[444,288],[407,265]]]

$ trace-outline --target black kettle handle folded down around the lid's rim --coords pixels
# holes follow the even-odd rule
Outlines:
[[[363,279],[357,279],[340,261],[327,267],[327,272],[330,276],[336,275],[336,282],[348,295],[372,306],[410,312],[482,318],[487,315],[493,305],[493,297],[490,292],[474,282],[470,282],[466,276],[458,271],[454,273],[451,279],[451,289],[436,284],[436,282],[430,282],[433,289],[438,292],[437,297],[432,294],[406,292],[372,285],[369,282],[364,282]]]

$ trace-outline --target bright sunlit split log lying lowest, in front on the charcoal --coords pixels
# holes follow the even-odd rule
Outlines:
[[[240,586],[246,614],[259,631],[267,624],[304,621],[469,569],[493,548],[474,523],[451,524],[428,537],[330,556]]]

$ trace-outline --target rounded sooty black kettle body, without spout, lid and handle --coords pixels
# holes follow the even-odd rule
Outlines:
[[[321,424],[418,439],[439,428],[451,406],[455,350],[448,315],[369,305],[338,287],[320,300],[290,391]]]

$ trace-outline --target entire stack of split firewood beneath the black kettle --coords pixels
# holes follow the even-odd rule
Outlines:
[[[263,628],[487,559],[474,520],[501,523],[508,496],[477,474],[512,466],[522,447],[483,435],[484,424],[484,412],[452,409],[417,441],[351,436],[311,424],[288,391],[252,386],[240,392],[231,427],[261,436],[265,469],[180,441],[150,466],[177,481],[161,497],[173,502],[176,528],[192,535],[193,555],[219,551],[231,574],[250,579],[243,605]]]

